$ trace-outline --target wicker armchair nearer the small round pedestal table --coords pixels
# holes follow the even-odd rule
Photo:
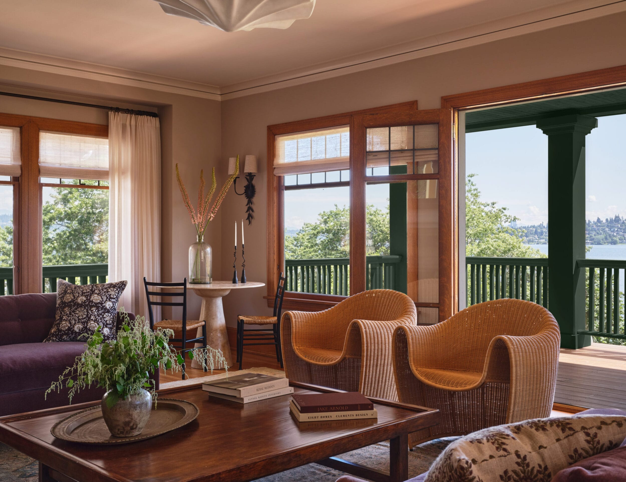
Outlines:
[[[415,304],[393,290],[369,290],[319,312],[288,311],[280,337],[287,378],[397,400],[391,336],[415,325]]]

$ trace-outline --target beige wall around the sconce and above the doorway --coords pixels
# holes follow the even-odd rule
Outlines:
[[[267,125],[403,101],[439,108],[441,96],[626,64],[626,14],[406,61],[342,77],[270,91],[222,103],[223,157],[255,154],[255,220],[247,227],[248,279],[266,280]],[[230,197],[222,212],[222,244],[232,244],[231,220],[244,215],[243,197]],[[232,270],[225,250],[222,271]],[[237,314],[269,313],[265,289],[231,293],[224,300],[227,324]]]

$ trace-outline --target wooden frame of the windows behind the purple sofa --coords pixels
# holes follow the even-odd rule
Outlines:
[[[39,182],[39,131],[106,137],[108,125],[0,113],[0,125],[19,127],[22,174],[13,177],[14,294],[41,293],[43,287],[42,187]],[[59,184],[58,187],[68,187]],[[86,186],[81,186],[85,188]],[[91,186],[90,188],[94,188]],[[106,188],[97,186],[95,188]]]

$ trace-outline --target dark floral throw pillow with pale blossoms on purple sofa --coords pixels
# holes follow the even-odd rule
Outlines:
[[[56,286],[56,318],[44,342],[86,341],[98,326],[105,341],[115,339],[117,304],[126,281],[74,285],[59,279]]]

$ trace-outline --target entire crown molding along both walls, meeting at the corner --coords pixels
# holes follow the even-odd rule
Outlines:
[[[416,39],[304,69],[250,79],[221,88],[183,79],[6,48],[0,48],[0,66],[19,67],[220,101],[379,68],[623,11],[626,11],[626,0],[573,0],[549,8]]]

